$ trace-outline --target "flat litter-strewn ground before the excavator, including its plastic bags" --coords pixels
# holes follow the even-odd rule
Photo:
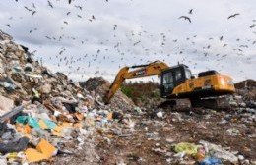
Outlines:
[[[105,164],[256,164],[255,120],[207,110],[158,112],[152,119],[139,111],[134,129],[122,125],[100,131],[96,141]]]

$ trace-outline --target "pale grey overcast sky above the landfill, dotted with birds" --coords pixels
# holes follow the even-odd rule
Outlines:
[[[234,82],[256,79],[255,0],[50,3],[53,8],[47,0],[1,1],[0,29],[52,72],[112,81],[120,67],[160,60],[183,63],[194,74],[217,70]]]

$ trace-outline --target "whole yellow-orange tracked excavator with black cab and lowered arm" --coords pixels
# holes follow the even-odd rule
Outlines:
[[[132,69],[132,71],[129,71]],[[161,61],[145,65],[123,67],[116,75],[105,96],[109,103],[126,79],[159,75],[160,97],[165,98],[161,108],[183,109],[191,107],[220,108],[229,106],[225,95],[235,91],[232,78],[210,70],[195,77],[184,64],[169,67]]]

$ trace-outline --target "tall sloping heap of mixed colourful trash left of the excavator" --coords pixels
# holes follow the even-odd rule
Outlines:
[[[0,31],[0,164],[96,164],[96,128],[113,120],[130,125],[123,111],[134,104],[118,92],[104,105],[110,83],[94,78],[81,86],[65,74],[51,73],[32,56]]]

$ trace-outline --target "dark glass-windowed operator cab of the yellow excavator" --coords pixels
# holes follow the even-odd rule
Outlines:
[[[160,97],[166,98],[177,85],[191,78],[191,71],[184,64],[163,70],[160,73]]]

